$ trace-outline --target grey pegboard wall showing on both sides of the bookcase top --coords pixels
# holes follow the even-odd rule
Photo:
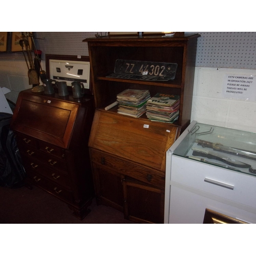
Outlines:
[[[36,32],[37,44],[44,54],[88,56],[87,42],[95,34],[108,32]],[[189,32],[190,33],[190,32]],[[197,67],[256,69],[256,32],[193,32],[199,33]]]

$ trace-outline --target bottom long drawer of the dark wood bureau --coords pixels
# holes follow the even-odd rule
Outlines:
[[[54,182],[47,180],[44,176],[34,173],[31,170],[28,171],[28,178],[35,185],[41,187],[42,189],[47,190],[52,195],[62,200],[65,200],[69,203],[73,202],[73,194],[71,190],[66,189],[58,184],[55,184]]]

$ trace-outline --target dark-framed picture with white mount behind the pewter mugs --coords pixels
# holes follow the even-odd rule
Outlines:
[[[70,88],[72,82],[81,82],[92,92],[89,56],[46,54],[46,74],[48,79],[67,82]]]

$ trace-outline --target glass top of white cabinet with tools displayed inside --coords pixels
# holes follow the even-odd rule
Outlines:
[[[173,154],[256,176],[256,133],[197,123]]]

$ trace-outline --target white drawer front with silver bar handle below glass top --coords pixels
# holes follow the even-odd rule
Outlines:
[[[171,184],[173,181],[256,208],[256,177],[250,175],[173,156]]]

